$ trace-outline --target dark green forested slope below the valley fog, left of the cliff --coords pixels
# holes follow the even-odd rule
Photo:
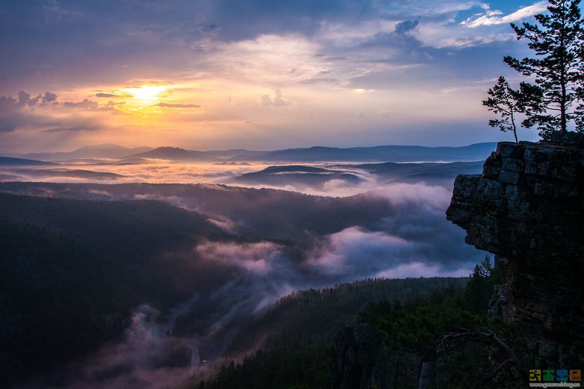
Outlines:
[[[499,331],[513,331],[498,318],[487,319],[493,286],[501,281],[489,261],[485,258],[477,265],[470,279],[368,279],[284,297],[250,320],[238,335],[260,333],[258,328],[265,330],[270,323],[280,323],[280,331],[274,331],[262,348],[241,362],[225,360],[216,376],[198,383],[193,379],[192,387],[338,387],[333,338],[340,327],[355,322],[383,331],[390,351],[423,355],[436,352],[435,341],[441,332],[460,326],[491,325]],[[355,315],[347,311],[355,311]],[[477,371],[489,366],[481,345],[449,353],[440,363],[451,365],[442,377],[444,382],[458,380],[450,382],[460,387],[472,386]],[[404,385],[418,387],[418,382],[410,377]]]

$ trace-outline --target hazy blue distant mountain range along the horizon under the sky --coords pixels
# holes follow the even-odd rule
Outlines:
[[[11,154],[11,157],[40,161],[71,161],[81,159],[168,159],[190,162],[457,162],[484,160],[496,148],[496,142],[475,143],[461,147],[374,146],[333,148],[314,146],[306,149],[258,151],[186,150],[176,147],[125,148],[105,143],[85,146],[71,152]],[[103,163],[104,161],[102,161]]]

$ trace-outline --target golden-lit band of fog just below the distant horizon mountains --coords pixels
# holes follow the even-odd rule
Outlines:
[[[432,183],[442,178],[439,184],[451,187],[456,174],[453,165],[471,162],[442,163],[450,166],[449,174],[434,177]],[[474,163],[477,164],[477,163]],[[366,191],[377,190],[380,185],[399,178],[399,174],[374,174],[361,169],[359,164],[343,162],[303,163],[302,168],[317,168],[322,171],[280,171],[269,176],[260,175],[270,166],[296,166],[292,164],[267,164],[256,162],[192,163],[168,160],[149,160],[147,163],[55,163],[50,166],[0,166],[0,181],[36,181],[57,183],[182,183],[225,184],[249,188],[276,188],[306,194],[346,197]],[[363,166],[371,166],[367,164]],[[415,166],[416,163],[402,163]],[[427,166],[428,163],[419,163]],[[478,165],[477,165],[478,166]],[[435,166],[434,170],[437,170]],[[468,169],[468,168],[467,168]],[[455,169],[456,170],[456,169]],[[259,174],[255,174],[259,173]],[[310,173],[310,174],[306,174]],[[407,173],[407,172],[406,172]],[[404,173],[404,175],[407,175]],[[458,173],[458,172],[457,172]],[[461,169],[460,173],[467,173]],[[276,177],[283,176],[286,177]],[[322,176],[322,177],[319,177]],[[446,181],[444,181],[446,179]],[[423,181],[423,178],[409,182]],[[428,180],[424,181],[430,183]]]

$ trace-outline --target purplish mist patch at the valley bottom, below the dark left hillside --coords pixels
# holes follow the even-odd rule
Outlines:
[[[168,316],[154,307],[141,304],[132,313],[123,337],[116,343],[104,345],[88,358],[72,363],[60,387],[70,389],[124,389],[135,387],[155,389],[184,383],[190,374],[186,366],[171,367],[172,358],[189,360],[189,345],[200,339],[171,337],[177,316],[192,309],[199,296],[193,295],[171,309]],[[33,381],[25,388],[39,387]],[[44,383],[43,387],[52,384]]]

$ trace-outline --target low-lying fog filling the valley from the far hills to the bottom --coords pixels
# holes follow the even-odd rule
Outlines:
[[[158,199],[204,213],[228,233],[241,234],[245,230],[256,237],[265,237],[248,243],[203,241],[193,247],[197,258],[237,269],[232,279],[217,285],[213,293],[195,294],[162,316],[147,305],[137,307],[123,341],[104,346],[87,360],[72,366],[70,369],[74,373],[66,380],[67,387],[156,388],[179,384],[189,376],[189,368],[159,366],[159,353],[177,344],[217,342],[217,337],[223,337],[217,345],[221,349],[246,317],[294,290],[322,288],[366,277],[467,276],[484,257],[484,253],[466,245],[464,232],[444,217],[454,180],[451,171],[396,180],[399,175],[390,177],[359,167],[335,166],[320,174],[338,172],[358,179],[331,176],[331,180],[320,180],[314,186],[303,181],[304,177],[298,180],[294,174],[303,172],[298,173],[295,168],[277,172],[291,174],[290,183],[286,183],[285,177],[284,181],[279,181],[284,183],[280,186],[234,178],[267,166],[161,162],[64,166],[123,176],[113,180],[27,177],[26,172],[19,174],[18,169],[3,169],[2,174],[23,177],[20,181],[227,184],[345,197],[326,199],[281,191],[248,192],[215,185],[191,187],[189,190],[193,192],[175,193],[171,188],[158,188],[157,185],[136,190],[131,185],[78,187],[37,183],[16,187],[0,183],[2,192],[105,200]],[[473,165],[472,169],[479,169],[479,164],[477,166]],[[462,166],[460,169],[467,173],[470,168]],[[274,238],[300,243],[291,248]],[[172,332],[177,317],[196,316],[201,306],[216,307],[214,323],[206,333],[186,338],[166,334],[166,331]],[[38,384],[34,382],[30,387]]]

